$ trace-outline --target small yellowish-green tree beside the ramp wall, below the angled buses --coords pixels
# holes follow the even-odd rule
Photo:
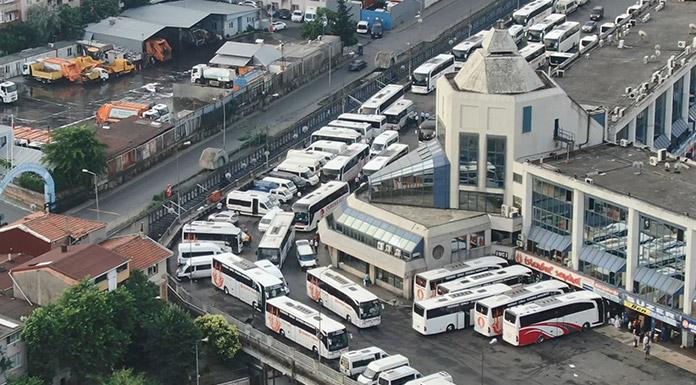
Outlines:
[[[237,327],[227,322],[222,315],[205,314],[196,318],[194,323],[208,337],[208,346],[220,361],[231,361],[241,350]]]

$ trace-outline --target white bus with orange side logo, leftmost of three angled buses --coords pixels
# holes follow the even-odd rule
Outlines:
[[[214,255],[212,261],[213,285],[258,311],[263,311],[269,299],[288,292],[278,277],[232,253]]]

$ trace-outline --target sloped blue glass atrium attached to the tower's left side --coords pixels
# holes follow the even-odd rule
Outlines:
[[[428,142],[370,175],[370,201],[449,208],[449,174],[439,143]]]

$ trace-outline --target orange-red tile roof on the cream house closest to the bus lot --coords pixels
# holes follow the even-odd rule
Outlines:
[[[130,259],[131,270],[145,270],[174,254],[150,237],[140,234],[107,239],[100,245]]]

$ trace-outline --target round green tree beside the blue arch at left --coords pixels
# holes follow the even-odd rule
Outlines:
[[[90,186],[93,181],[82,169],[97,174],[106,171],[106,146],[96,137],[96,129],[87,126],[61,128],[43,148],[44,161],[63,187]]]

